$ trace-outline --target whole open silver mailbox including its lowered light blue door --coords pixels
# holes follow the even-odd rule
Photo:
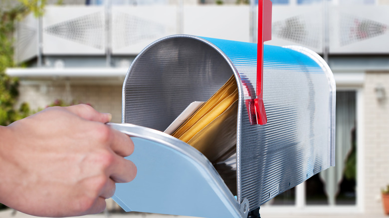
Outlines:
[[[123,123],[111,124],[135,142],[127,158],[138,175],[117,184],[113,197],[125,211],[245,218],[335,164],[336,91],[328,65],[302,47],[264,45],[267,123],[257,125],[249,111],[256,98],[256,61],[257,44],[190,35],[162,38],[137,56],[123,85]],[[238,89],[236,150],[210,163],[161,131],[231,75]]]

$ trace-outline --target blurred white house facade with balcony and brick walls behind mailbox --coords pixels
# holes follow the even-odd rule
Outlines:
[[[256,42],[255,2],[64,0],[17,24],[19,102],[89,103],[121,122],[122,83],[151,42],[191,34]],[[217,4],[222,3],[222,5]],[[272,40],[324,57],[337,83],[336,167],[280,194],[263,217],[382,216],[389,184],[389,0],[273,0]],[[264,94],[266,95],[266,94]]]

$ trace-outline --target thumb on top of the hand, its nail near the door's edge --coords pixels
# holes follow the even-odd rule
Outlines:
[[[91,121],[106,123],[112,119],[112,115],[110,113],[100,113],[89,105],[80,104],[64,107],[64,109],[67,109],[68,111]]]

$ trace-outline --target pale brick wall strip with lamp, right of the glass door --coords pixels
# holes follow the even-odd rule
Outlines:
[[[377,100],[376,87],[386,96]],[[389,184],[389,72],[367,72],[364,87],[365,211],[383,214],[380,190]]]

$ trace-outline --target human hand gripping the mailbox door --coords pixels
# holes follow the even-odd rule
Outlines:
[[[52,107],[0,126],[0,202],[42,217],[100,213],[137,169],[130,137],[87,105]]]

